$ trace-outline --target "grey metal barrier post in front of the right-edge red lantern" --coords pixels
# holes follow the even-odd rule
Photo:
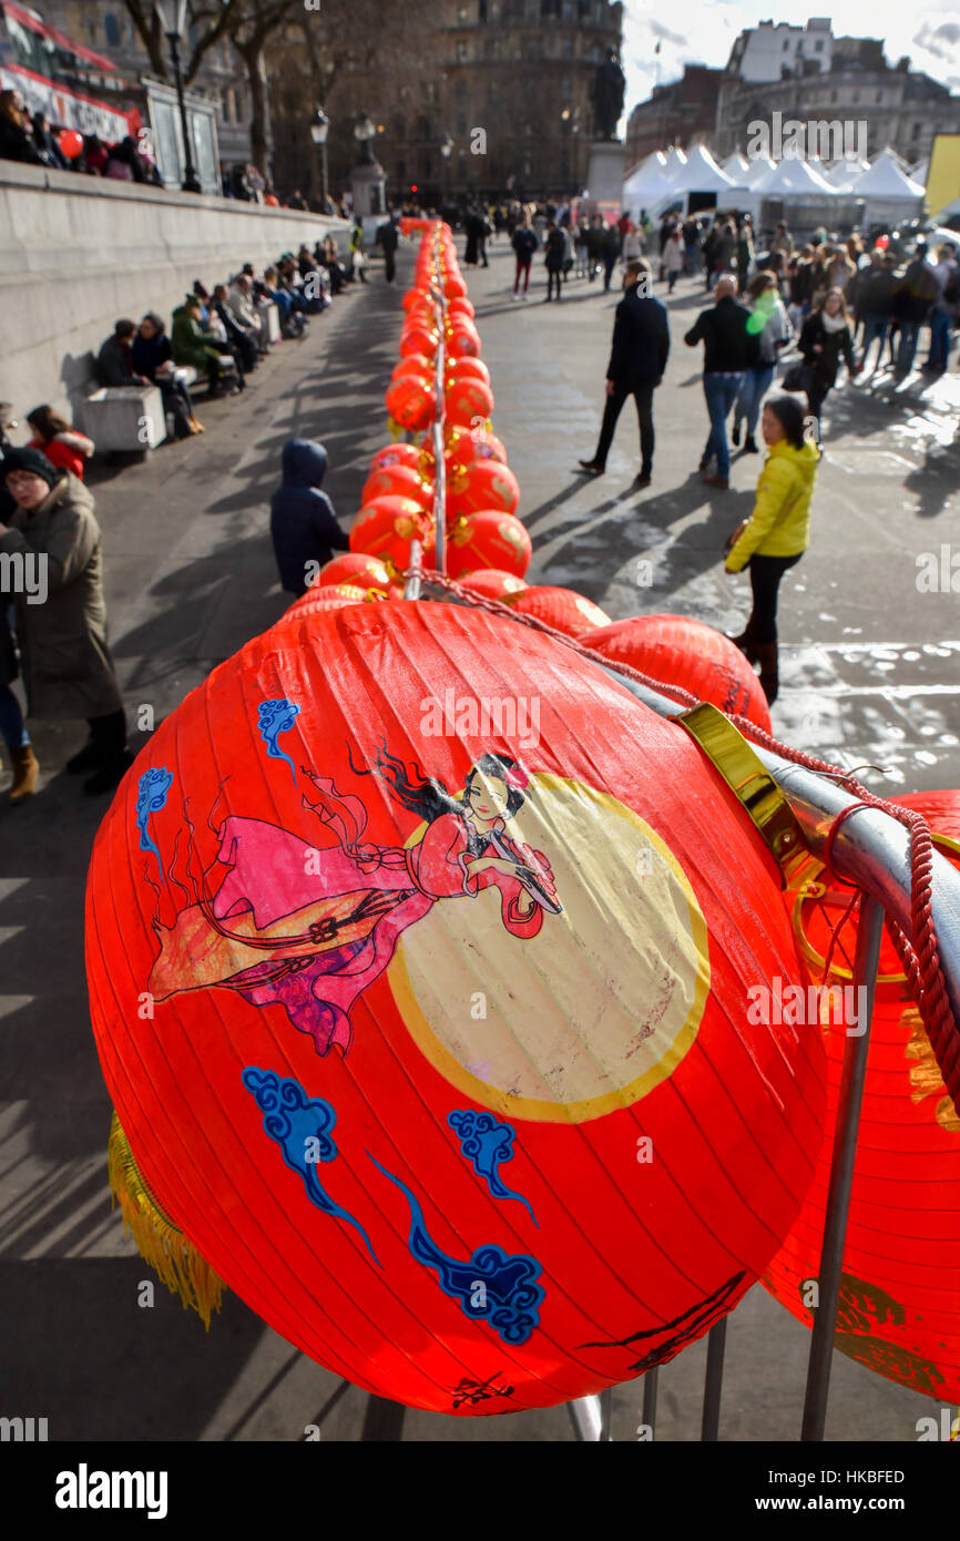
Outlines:
[[[869,894],[863,895],[860,925],[857,926],[857,954],[854,960],[854,989],[864,989],[866,1011],[857,1017],[858,1036],[849,1034],[843,1056],[840,1102],[837,1106],[837,1133],[834,1159],[831,1162],[831,1185],[823,1227],[823,1251],[817,1276],[818,1301],[811,1339],[806,1398],[803,1404],[803,1441],[823,1439],[826,1404],[831,1388],[831,1362],[834,1356],[834,1330],[837,1304],[840,1301],[840,1274],[843,1270],[843,1245],[846,1220],[854,1185],[854,1162],[857,1159],[857,1130],[860,1103],[866,1080],[866,1060],[871,1045],[871,1019],[874,1014],[874,989],[880,962],[880,937],[883,934],[883,906]],[[854,997],[858,1000],[860,997]],[[866,1017],[866,1020],[864,1020]]]

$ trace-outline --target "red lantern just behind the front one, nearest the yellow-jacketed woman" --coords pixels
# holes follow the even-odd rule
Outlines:
[[[581,636],[612,663],[678,684],[721,712],[747,717],[770,732],[770,709],[760,680],[723,632],[687,615],[633,615]],[[667,689],[669,695],[669,689]]]

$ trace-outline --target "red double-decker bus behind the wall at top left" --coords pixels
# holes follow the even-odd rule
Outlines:
[[[116,91],[117,100],[94,96],[97,86]],[[116,65],[14,0],[0,0],[0,88],[17,89],[31,112],[45,112],[55,128],[96,134],[105,143],[136,139],[140,128],[139,109],[123,102]]]

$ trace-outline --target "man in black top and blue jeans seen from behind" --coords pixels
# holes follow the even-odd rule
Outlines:
[[[727,416],[740,391],[744,374],[760,361],[760,342],[749,328],[750,311],[737,299],[737,279],[724,273],[717,284],[717,299],[710,310],[701,310],[684,342],[693,348],[704,344],[703,394],[710,419],[710,433],[700,461],[709,487],[729,487],[730,447]],[[710,461],[717,470],[710,473]]]

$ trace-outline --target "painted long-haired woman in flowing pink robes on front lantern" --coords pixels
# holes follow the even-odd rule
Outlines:
[[[333,846],[308,848],[302,835],[260,818],[225,818],[197,903],[170,928],[154,920],[156,1000],[186,989],[234,989],[254,1006],[284,1006],[319,1054],[331,1045],[345,1054],[354,1002],[387,968],[407,926],[439,900],[496,888],[505,929],[524,938],[538,934],[544,912],[561,912],[547,857],[505,832],[529,784],[509,755],[481,755],[462,798],[416,764],[410,770],[385,746],[373,769],[357,770],[353,761],[351,769],[379,777],[401,807],[425,821],[416,844],[364,843],[364,800],[314,775],[308,778],[319,795],[308,806],[336,837]],[[219,869],[225,872],[213,892]]]

